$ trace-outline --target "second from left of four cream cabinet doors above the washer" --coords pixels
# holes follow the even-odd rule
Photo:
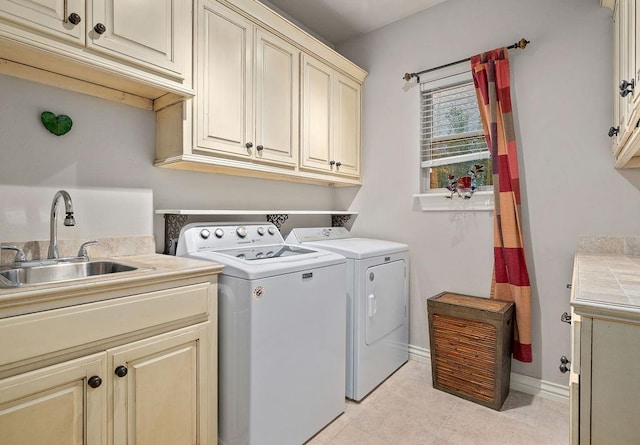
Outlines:
[[[297,48],[257,30],[256,159],[290,165],[298,162],[299,60]]]

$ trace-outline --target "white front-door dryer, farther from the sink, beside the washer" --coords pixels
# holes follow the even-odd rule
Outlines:
[[[286,242],[347,258],[345,394],[362,400],[409,359],[409,248],[345,227],[293,229]]]

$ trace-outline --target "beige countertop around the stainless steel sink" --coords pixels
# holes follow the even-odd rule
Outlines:
[[[104,258],[92,258],[92,261]],[[144,254],[109,257],[108,260],[130,264],[138,270],[101,275],[66,282],[0,289],[0,318],[20,315],[32,311],[17,310],[36,303],[47,303],[37,310],[56,309],[72,304],[82,304],[78,298],[117,290],[122,296],[135,293],[136,288],[152,286],[162,288],[172,281],[199,280],[219,274],[223,266],[211,261],[181,258],[162,254]],[[188,283],[187,283],[188,284]],[[171,287],[171,286],[169,286]],[[106,298],[117,298],[118,295]],[[61,300],[67,303],[59,304]],[[99,301],[100,298],[84,302]]]

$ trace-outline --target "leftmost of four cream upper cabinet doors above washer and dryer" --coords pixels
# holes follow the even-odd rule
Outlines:
[[[202,154],[253,153],[254,25],[216,2],[198,4],[196,147]],[[247,144],[251,147],[247,147]]]

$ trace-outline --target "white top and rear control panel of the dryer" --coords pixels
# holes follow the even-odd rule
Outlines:
[[[345,227],[316,227],[293,229],[287,243],[300,244],[339,253],[350,259],[365,259],[376,256],[406,252],[409,246],[393,241],[371,238],[354,238]]]

